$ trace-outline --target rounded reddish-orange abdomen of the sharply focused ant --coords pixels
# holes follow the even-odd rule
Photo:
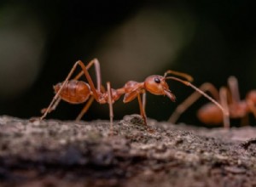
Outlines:
[[[62,86],[62,82],[54,86],[55,93],[57,93]],[[68,81],[61,89],[61,99],[73,103],[84,103],[90,96],[90,86],[86,82],[71,80]]]

